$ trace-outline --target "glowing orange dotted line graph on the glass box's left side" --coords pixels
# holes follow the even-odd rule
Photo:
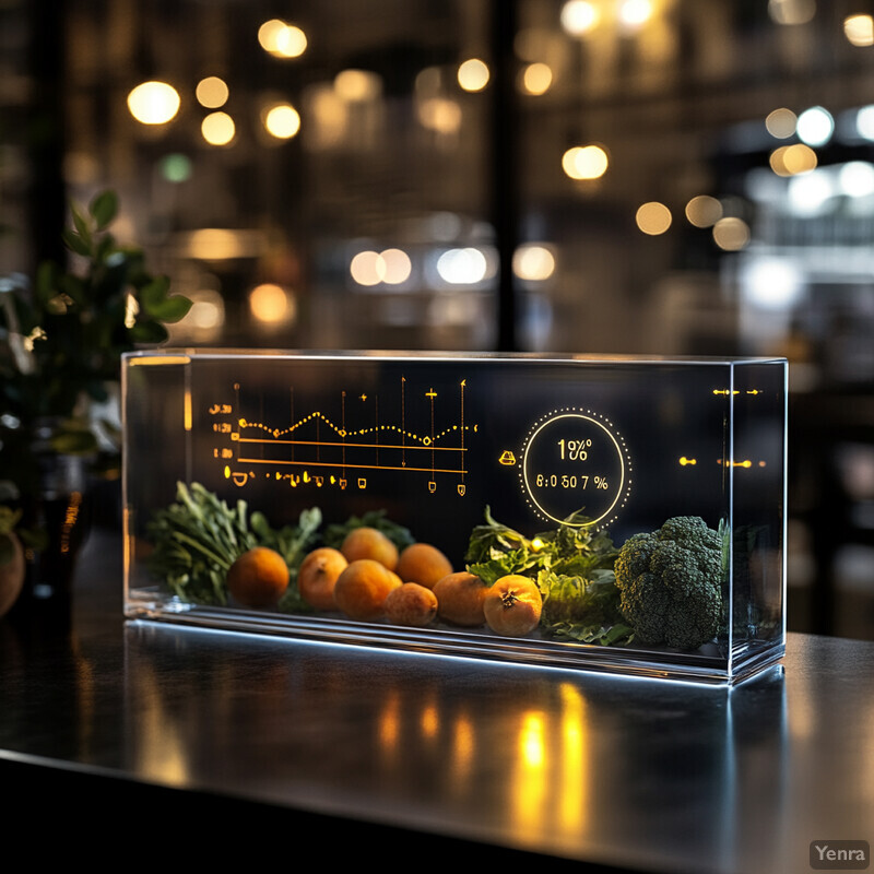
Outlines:
[[[252,415],[252,401],[236,382],[227,429],[233,463],[225,466],[225,476],[237,485],[267,475],[292,486],[366,488],[369,477],[387,472],[424,474],[429,492],[437,489],[439,477],[451,476],[463,495],[470,439],[479,430],[465,418],[466,388],[466,379],[435,388],[401,376],[393,387],[339,389],[314,401],[290,386],[287,402],[262,397]],[[300,394],[308,397],[303,404]],[[280,417],[285,424],[277,424]]]

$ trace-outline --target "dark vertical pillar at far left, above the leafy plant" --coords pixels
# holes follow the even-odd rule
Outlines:
[[[28,67],[33,83],[27,123],[31,186],[28,233],[36,264],[63,263],[67,197],[63,184],[64,3],[28,0]]]

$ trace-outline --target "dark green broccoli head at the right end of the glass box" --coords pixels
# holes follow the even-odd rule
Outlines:
[[[619,610],[640,642],[698,649],[719,630],[722,540],[699,517],[629,538],[614,572]]]

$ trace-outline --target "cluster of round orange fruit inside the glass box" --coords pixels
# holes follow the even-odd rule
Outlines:
[[[285,591],[288,569],[276,553],[267,555],[271,552],[258,547],[234,563],[227,586],[237,601],[268,606]],[[339,610],[351,619],[424,627],[439,618],[464,627],[487,625],[508,637],[533,631],[543,607],[528,577],[509,575],[488,587],[473,574],[454,571],[429,543],[399,551],[385,533],[365,525],[352,529],[339,550],[312,550],[300,564],[297,588],[316,610]]]

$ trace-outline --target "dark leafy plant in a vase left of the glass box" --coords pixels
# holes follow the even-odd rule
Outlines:
[[[191,306],[149,272],[141,249],[109,233],[117,212],[113,191],[73,205],[70,265],[0,283],[0,481],[25,524],[46,532],[37,563],[52,579],[36,584],[49,589],[68,581],[69,562],[46,559],[71,558],[81,543],[88,472],[118,468],[118,418],[101,411],[117,398],[121,354],[166,340],[165,324]]]

